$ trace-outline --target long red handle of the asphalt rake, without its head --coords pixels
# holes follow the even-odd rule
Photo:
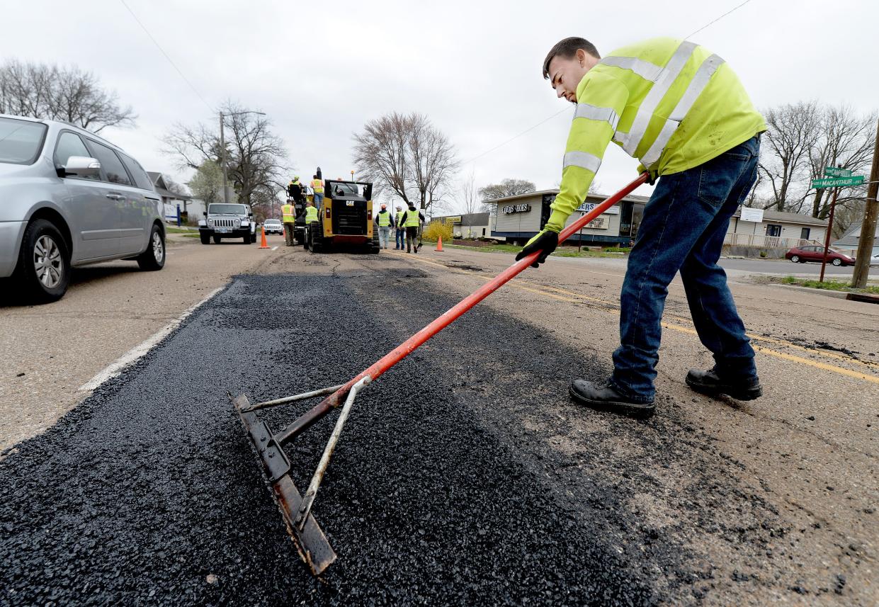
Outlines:
[[[578,232],[587,223],[598,217],[601,213],[607,211],[607,209],[611,206],[614,206],[617,202],[619,202],[629,193],[634,191],[639,185],[647,181],[647,177],[647,173],[642,173],[635,181],[626,185],[620,191],[616,192],[613,196],[605,199],[604,202],[601,202],[598,206],[595,206],[592,211],[586,213],[583,217],[574,221],[567,228],[564,228],[562,232],[558,235],[558,242],[564,242],[570,237],[570,235]],[[416,350],[418,346],[420,346],[422,343],[425,343],[432,336],[435,336],[437,333],[439,333],[439,331],[441,331],[442,329],[446,329],[448,325],[458,320],[458,318],[460,318],[461,315],[467,312],[471,307],[476,306],[477,303],[484,300],[491,293],[497,291],[501,286],[505,285],[512,278],[515,278],[529,265],[534,264],[534,261],[537,259],[538,255],[540,255],[540,251],[535,251],[528,257],[523,257],[522,259],[519,259],[518,262],[512,264],[505,271],[502,271],[500,274],[498,274],[498,276],[492,278],[488,283],[476,289],[475,292],[470,293],[467,297],[459,301],[453,307],[450,307],[446,312],[439,316],[439,318],[431,322],[424,329],[418,331],[418,333],[398,345],[394,350],[389,351],[382,358],[376,361],[372,366],[370,366],[366,371],[360,372],[357,377],[349,380],[348,383],[345,384],[345,386],[340,387],[336,392],[330,394],[330,396],[326,397],[323,401],[318,403],[307,414],[305,414],[303,418],[306,416],[314,415],[316,420],[318,416],[323,416],[323,414],[326,413],[326,411],[328,411],[331,407],[338,407],[338,405],[341,404],[342,399],[345,398],[345,394],[348,394],[348,391],[351,390],[352,386],[360,381],[360,379],[363,379],[367,375],[372,380],[378,378],[382,373],[388,371],[392,366],[403,360],[403,358],[409,356],[412,350]]]

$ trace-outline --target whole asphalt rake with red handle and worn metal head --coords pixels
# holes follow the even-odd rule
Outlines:
[[[580,228],[583,228],[587,223],[598,217],[601,213],[604,213],[607,208],[619,202],[629,192],[647,181],[648,177],[647,173],[642,173],[640,177],[621,191],[605,199],[595,206],[592,211],[585,213],[578,220],[571,223],[570,226],[564,228],[558,235],[558,242],[563,242],[570,235],[577,233]],[[342,434],[345,420],[351,412],[358,392],[375,379],[378,379],[382,373],[388,371],[392,366],[403,360],[403,358],[409,356],[413,350],[416,350],[432,336],[435,336],[439,331],[460,318],[461,314],[464,314],[491,293],[497,291],[501,286],[519,275],[521,271],[524,271],[529,265],[534,264],[539,255],[540,251],[535,251],[531,255],[523,257],[515,264],[512,264],[505,271],[498,274],[498,276],[476,289],[474,293],[470,293],[463,300],[449,308],[424,329],[418,331],[418,333],[398,345],[394,350],[389,351],[365,371],[360,372],[357,377],[349,379],[345,384],[304,394],[294,394],[293,396],[287,396],[275,401],[257,402],[254,404],[251,404],[243,394],[233,399],[232,402],[235,405],[238,416],[241,418],[244,430],[251,437],[251,441],[259,454],[259,459],[263,462],[265,476],[272,488],[272,496],[275,502],[278,502],[281,515],[283,515],[284,521],[287,523],[287,531],[293,537],[302,560],[308,564],[313,574],[320,574],[331,565],[333,560],[336,560],[336,553],[333,552],[330,542],[327,541],[320,526],[316,523],[314,517],[311,516],[311,505],[315,502],[317,489],[320,488],[321,481],[323,481],[323,473],[326,472],[327,466],[330,464],[332,452],[335,450],[336,444],[338,444],[338,438]],[[317,396],[325,396],[325,398],[298,417],[293,423],[290,423],[286,428],[276,433],[273,433],[265,422],[261,422],[255,413],[255,411],[262,408],[278,407],[291,402],[316,398]],[[336,420],[330,440],[327,442],[326,447],[324,447],[320,462],[317,464],[315,473],[311,477],[309,488],[306,489],[304,495],[300,495],[290,476],[290,460],[287,459],[287,454],[284,452],[284,445],[298,437],[303,431],[308,430],[313,423],[326,416],[333,408],[338,408],[343,404],[342,412]]]

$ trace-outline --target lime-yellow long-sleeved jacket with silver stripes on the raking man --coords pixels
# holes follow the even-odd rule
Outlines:
[[[619,48],[578,84],[546,227],[560,231],[585,200],[610,141],[657,177],[706,163],[765,130],[735,72],[707,48],[671,38]]]

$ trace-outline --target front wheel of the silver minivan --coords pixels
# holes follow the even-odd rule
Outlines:
[[[34,220],[25,229],[15,276],[25,299],[34,303],[57,301],[67,292],[70,253],[51,221]]]

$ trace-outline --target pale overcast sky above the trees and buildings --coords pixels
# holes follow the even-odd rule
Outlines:
[[[230,98],[269,115],[296,174],[319,164],[338,177],[350,175],[352,133],[368,119],[423,112],[466,162],[568,105],[541,78],[556,41],[583,36],[603,54],[684,38],[741,1],[127,0],[198,94],[120,0],[4,2],[0,56],[94,72],[138,114],[134,129],[102,134],[148,170],[185,181],[159,137],[175,121],[215,121]],[[730,63],[758,107],[817,98],[868,112],[879,107],[877,35],[872,0],[751,0],[692,40]],[[467,163],[461,178],[473,170],[480,186],[519,177],[555,187],[571,112]],[[601,191],[636,177],[636,166],[609,146]]]

